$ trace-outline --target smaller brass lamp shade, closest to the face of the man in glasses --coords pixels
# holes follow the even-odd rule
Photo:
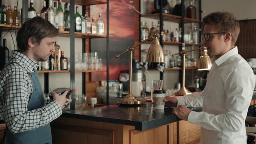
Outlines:
[[[201,56],[198,60],[198,71],[210,70],[212,67],[212,62],[210,60],[210,56],[207,55],[207,48],[203,48]]]

